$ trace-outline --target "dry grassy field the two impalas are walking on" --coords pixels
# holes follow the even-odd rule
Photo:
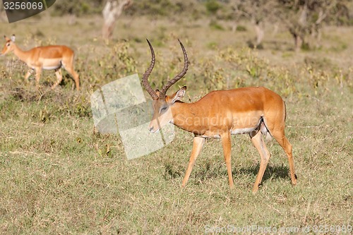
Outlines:
[[[13,54],[0,58],[0,234],[219,234],[251,225],[258,226],[253,234],[309,226],[311,234],[313,226],[330,234],[325,226],[353,225],[352,28],[325,28],[321,47],[295,53],[290,35],[273,35],[270,25],[264,49],[252,50],[246,42],[255,35],[246,24],[246,31],[232,32],[226,22],[215,28],[208,20],[121,18],[106,44],[100,18],[68,21],[44,15],[0,24],[23,49],[75,49],[82,86],[72,90],[65,76],[50,90],[54,73],[45,71],[38,92],[33,80],[23,83],[22,62]],[[282,95],[297,186],[275,140],[268,143],[272,158],[263,184],[253,194],[260,157],[248,135],[232,137],[230,190],[220,140],[207,140],[181,189],[190,133],[177,130],[171,144],[127,160],[119,136],[95,132],[90,95],[118,78],[141,76],[150,62],[145,38],[155,45],[151,80],[158,87],[180,71],[177,38],[184,42],[190,69],[169,92],[187,85],[186,102],[249,85]]]

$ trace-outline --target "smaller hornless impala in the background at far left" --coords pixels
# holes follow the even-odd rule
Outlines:
[[[6,43],[4,49],[2,49],[1,55],[7,54],[8,52],[13,52],[18,59],[25,62],[30,69],[25,74],[25,81],[28,82],[28,78],[35,71],[35,82],[37,88],[40,83],[40,73],[42,69],[45,70],[55,70],[55,75],[57,78],[56,83],[52,85],[52,89],[61,83],[63,76],[61,74],[61,66],[63,66],[66,71],[73,77],[76,83],[76,89],[80,89],[80,80],[78,78],[78,73],[73,70],[73,50],[66,46],[47,46],[47,47],[35,47],[28,51],[21,50],[15,44],[15,35],[11,36],[11,39],[4,36]]]

